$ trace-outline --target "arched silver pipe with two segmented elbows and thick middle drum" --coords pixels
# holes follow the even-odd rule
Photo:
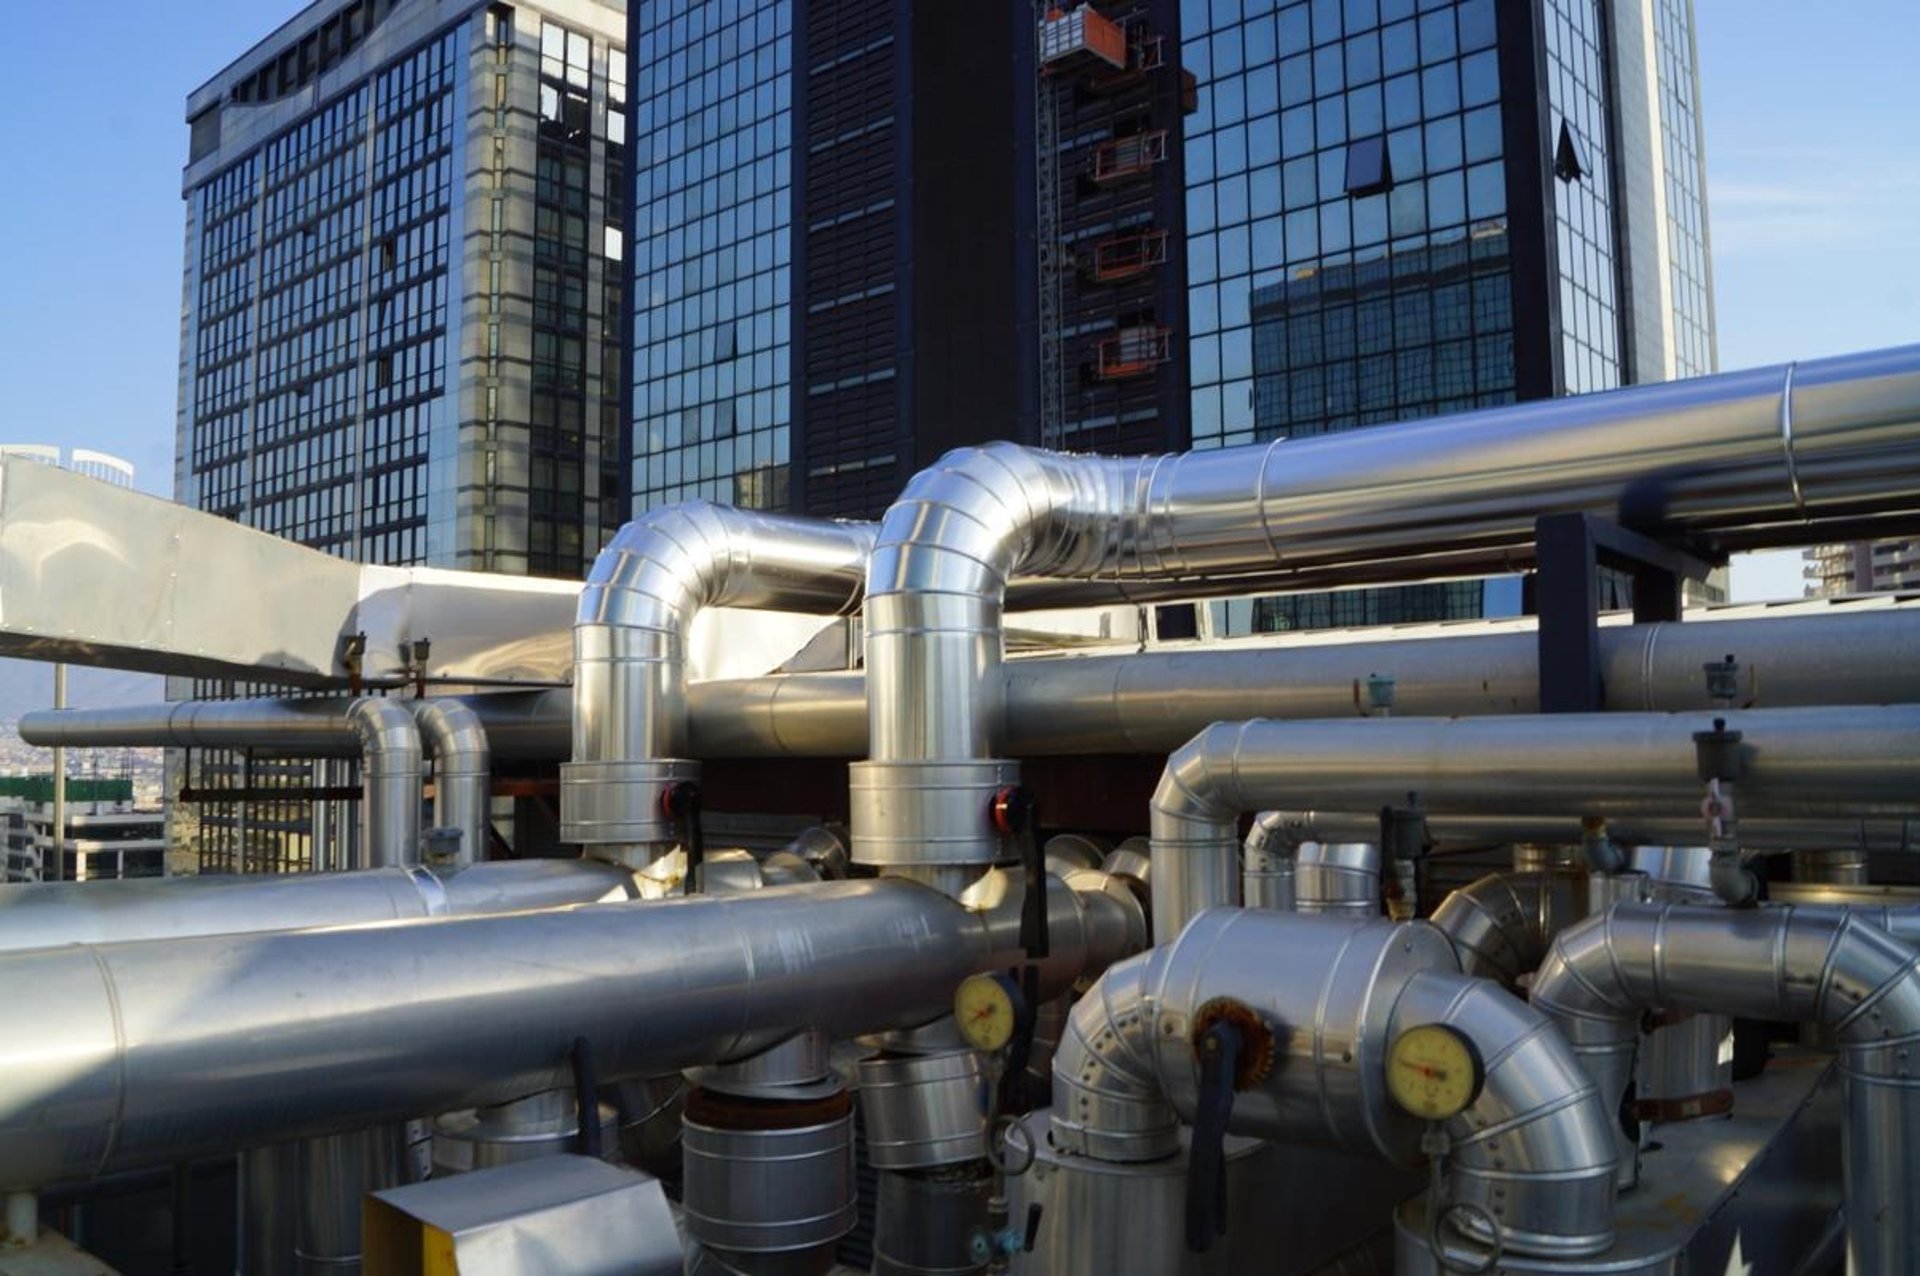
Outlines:
[[[1388,1099],[1388,1044],[1417,1025],[1455,1027],[1486,1082],[1448,1122],[1448,1199],[1488,1209],[1517,1253],[1613,1241],[1599,1092],[1544,1015],[1459,975],[1425,923],[1212,910],[1121,961],[1073,1007],[1054,1055],[1054,1147],[1102,1161],[1173,1155],[1179,1121],[1196,1111],[1194,1038],[1208,1017],[1240,1025],[1248,1055],[1271,1052],[1235,1094],[1229,1130],[1396,1163],[1417,1159],[1421,1122]]]

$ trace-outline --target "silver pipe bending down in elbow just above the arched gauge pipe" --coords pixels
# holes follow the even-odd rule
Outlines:
[[[1741,815],[1920,814],[1920,708],[1223,721],[1167,758],[1154,791],[1154,936],[1235,898],[1244,812],[1695,814],[1693,733],[1741,731]]]

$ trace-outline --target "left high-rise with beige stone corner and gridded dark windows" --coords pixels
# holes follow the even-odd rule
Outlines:
[[[182,503],[582,576],[628,508],[624,35],[618,0],[319,0],[188,96]],[[253,792],[200,808],[204,865],[307,865],[336,766],[196,754]]]

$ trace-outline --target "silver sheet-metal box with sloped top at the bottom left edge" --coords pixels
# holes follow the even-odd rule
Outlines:
[[[451,1243],[461,1276],[680,1276],[684,1261],[659,1180],[591,1157],[545,1157],[380,1192],[367,1218],[374,1272],[420,1270],[432,1232]]]

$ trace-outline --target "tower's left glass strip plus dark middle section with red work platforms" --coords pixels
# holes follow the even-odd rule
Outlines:
[[[636,508],[874,516],[960,443],[1185,445],[1177,8],[1100,10],[1119,63],[1041,73],[1020,2],[630,6]]]

